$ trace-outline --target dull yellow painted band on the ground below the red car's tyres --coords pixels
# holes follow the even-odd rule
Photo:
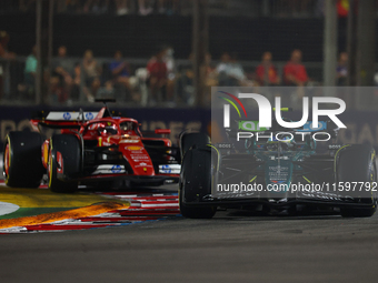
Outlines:
[[[109,201],[109,198],[83,193],[52,193],[43,189],[0,186],[0,201],[14,203],[20,208],[82,208]]]

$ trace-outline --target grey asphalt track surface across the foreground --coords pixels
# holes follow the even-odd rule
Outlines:
[[[231,210],[212,220],[0,235],[0,281],[374,282],[377,252],[378,214]]]

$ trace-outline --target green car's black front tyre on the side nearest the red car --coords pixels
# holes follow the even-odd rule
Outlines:
[[[205,195],[211,193],[212,178],[217,174],[217,155],[211,154],[210,146],[189,150],[182,160],[179,204],[182,216],[189,219],[211,219],[216,206],[196,206]]]

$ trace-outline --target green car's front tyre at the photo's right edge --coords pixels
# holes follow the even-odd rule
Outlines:
[[[375,150],[362,144],[341,150],[338,156],[337,182],[377,182]],[[377,194],[372,190],[362,190],[357,201],[357,208],[340,209],[344,218],[369,218],[377,211]],[[358,208],[359,203],[365,206]]]

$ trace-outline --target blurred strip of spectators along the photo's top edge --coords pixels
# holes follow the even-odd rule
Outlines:
[[[325,0],[209,0],[209,14],[266,17],[322,17]],[[58,13],[80,14],[179,14],[189,16],[190,0],[61,0]],[[1,0],[0,12],[33,12],[36,0]],[[348,0],[338,0],[339,16],[348,13]]]

